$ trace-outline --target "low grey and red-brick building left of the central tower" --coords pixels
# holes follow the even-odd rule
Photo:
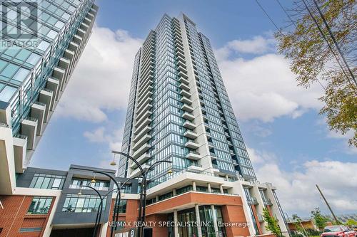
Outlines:
[[[68,171],[28,167],[16,180],[13,195],[0,196],[0,237],[3,236],[91,236],[94,231],[99,196],[93,186],[104,196],[114,188],[114,182],[102,174],[114,176],[115,171],[71,165]],[[95,184],[91,179],[96,180]],[[116,178],[124,182],[124,178]],[[81,192],[81,195],[79,195]],[[134,179],[121,191],[120,221],[136,221],[139,204],[138,184]],[[110,233],[105,224],[113,216],[116,192],[104,199],[100,236]]]

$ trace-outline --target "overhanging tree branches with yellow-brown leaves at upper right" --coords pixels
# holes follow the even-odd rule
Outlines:
[[[320,113],[326,115],[330,130],[343,135],[349,131],[353,132],[354,135],[348,142],[357,147],[357,85],[343,64],[313,1],[305,1],[332,51],[301,0],[296,0],[293,9],[287,11],[290,16],[288,23],[291,26],[288,29],[291,30],[278,31],[275,34],[278,51],[291,61],[291,70],[297,75],[298,85],[304,88],[314,83],[324,85],[325,93],[319,98],[324,102]],[[357,78],[356,0],[316,1],[348,61],[352,74]],[[343,65],[344,70],[338,62]]]

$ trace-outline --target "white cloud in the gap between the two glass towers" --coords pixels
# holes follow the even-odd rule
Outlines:
[[[134,56],[141,43],[124,30],[94,26],[57,115],[103,122],[108,119],[106,112],[125,109]]]

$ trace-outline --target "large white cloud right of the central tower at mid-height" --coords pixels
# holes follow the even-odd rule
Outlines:
[[[218,49],[221,51],[222,48]],[[321,88],[298,87],[296,76],[283,56],[269,53],[245,60],[222,55],[218,56],[218,65],[240,120],[272,122],[277,117],[296,118],[308,109],[322,107],[318,101]]]

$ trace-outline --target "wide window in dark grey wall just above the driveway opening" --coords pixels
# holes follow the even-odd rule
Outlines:
[[[101,199],[96,195],[67,194],[63,212],[92,212],[98,211]],[[103,200],[103,210],[106,209],[106,199]]]

